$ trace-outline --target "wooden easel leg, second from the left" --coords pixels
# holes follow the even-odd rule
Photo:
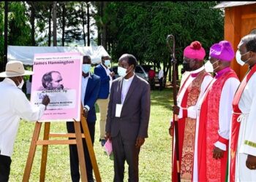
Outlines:
[[[44,140],[49,140],[50,133],[50,122],[45,122]],[[40,182],[45,181],[45,170],[48,156],[48,145],[42,146],[42,159],[41,159],[41,170],[40,170]]]

